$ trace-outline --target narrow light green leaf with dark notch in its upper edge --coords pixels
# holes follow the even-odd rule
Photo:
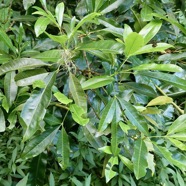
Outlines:
[[[174,46],[167,44],[167,43],[157,43],[157,46],[153,47],[153,44],[148,44],[148,45],[141,47],[139,50],[134,52],[132,55],[139,55],[139,54],[145,54],[145,53],[151,53],[151,52],[163,52],[168,48],[174,48]]]

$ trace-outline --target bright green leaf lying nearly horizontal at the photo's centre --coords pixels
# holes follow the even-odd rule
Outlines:
[[[84,81],[81,86],[83,90],[96,89],[106,86],[114,81],[113,77],[110,76],[94,76],[93,78]]]

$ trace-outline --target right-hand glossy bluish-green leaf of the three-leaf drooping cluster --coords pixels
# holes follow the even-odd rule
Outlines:
[[[140,115],[134,106],[132,106],[129,102],[118,98],[122,109],[125,112],[125,115],[129,119],[129,121],[137,127],[137,129],[142,132],[144,135],[149,135],[147,121],[146,119]]]

